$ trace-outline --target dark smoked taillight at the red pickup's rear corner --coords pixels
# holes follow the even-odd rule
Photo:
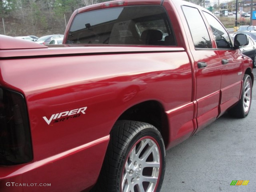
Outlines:
[[[0,88],[0,165],[33,159],[30,129],[22,94]]]

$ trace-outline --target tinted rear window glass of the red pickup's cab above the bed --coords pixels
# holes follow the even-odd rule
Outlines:
[[[77,15],[67,44],[176,45],[162,6],[128,6]]]

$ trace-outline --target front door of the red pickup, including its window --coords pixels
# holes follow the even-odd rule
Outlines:
[[[219,20],[203,11],[216,42],[216,52],[221,60],[220,114],[239,100],[243,78],[243,56],[233,50],[230,36]]]

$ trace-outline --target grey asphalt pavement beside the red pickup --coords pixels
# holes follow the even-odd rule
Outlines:
[[[166,152],[161,192],[256,191],[256,69],[252,104],[246,118],[222,115]],[[249,180],[247,185],[230,185]]]

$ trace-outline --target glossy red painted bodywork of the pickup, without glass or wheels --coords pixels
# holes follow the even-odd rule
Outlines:
[[[129,5],[160,5],[161,1],[129,2]],[[165,143],[168,149],[201,130],[238,101],[242,77],[247,69],[251,70],[252,61],[243,59],[238,50],[195,50],[182,15],[182,4],[186,2],[175,0],[163,4],[174,28],[177,47],[45,48],[0,36],[0,86],[24,95],[34,153],[34,160],[28,164],[0,166],[0,191],[89,189],[99,175],[115,121],[138,103],[153,100],[162,105],[168,121],[163,130],[168,133]],[[93,5],[79,11],[100,7]],[[67,29],[74,16],[75,13]],[[19,45],[17,49],[15,45]],[[225,66],[221,65],[223,58],[230,60]],[[207,62],[207,68],[198,69],[200,61]],[[238,76],[240,71],[242,75]],[[129,92],[136,94],[126,97]],[[48,125],[43,119],[83,107],[87,107],[85,114],[63,116],[56,123],[52,120]],[[51,187],[10,188],[6,182],[51,183]]]

